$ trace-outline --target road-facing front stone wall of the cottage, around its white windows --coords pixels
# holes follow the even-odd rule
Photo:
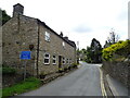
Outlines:
[[[46,41],[44,39],[46,32],[50,33],[50,41]],[[76,63],[75,48],[60,38],[60,36],[54,34],[52,30],[44,27],[42,24],[39,24],[39,74],[42,72],[48,74],[58,71],[58,56],[62,56],[65,59],[72,59],[72,63]],[[63,41],[65,47],[63,47]],[[43,63],[46,52],[50,54],[50,64],[48,65]],[[52,63],[53,56],[56,57],[56,64]],[[62,68],[64,69],[68,65],[69,63],[65,63],[62,64]]]

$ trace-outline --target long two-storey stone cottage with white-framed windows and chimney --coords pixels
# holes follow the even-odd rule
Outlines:
[[[53,73],[76,63],[76,45],[68,37],[58,35],[44,22],[23,15],[24,7],[13,7],[13,16],[2,27],[2,61],[23,72],[25,60],[22,51],[31,51],[26,71],[31,75]]]

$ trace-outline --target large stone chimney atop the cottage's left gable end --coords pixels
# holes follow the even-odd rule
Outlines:
[[[20,3],[13,5],[13,16],[16,16],[17,14],[23,14],[24,7]]]

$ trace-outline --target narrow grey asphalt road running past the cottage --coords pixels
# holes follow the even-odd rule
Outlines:
[[[78,70],[20,96],[102,96],[99,65],[80,63]]]

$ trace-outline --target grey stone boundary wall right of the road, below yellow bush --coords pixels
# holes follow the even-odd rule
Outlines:
[[[130,61],[110,62],[104,61],[103,69],[114,78],[130,87]]]

